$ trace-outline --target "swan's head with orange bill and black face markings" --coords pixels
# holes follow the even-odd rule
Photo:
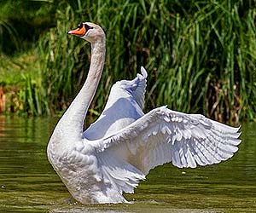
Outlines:
[[[91,22],[81,22],[77,29],[69,31],[67,34],[84,38],[90,43],[96,43],[105,38],[105,33],[102,30],[102,27]]]

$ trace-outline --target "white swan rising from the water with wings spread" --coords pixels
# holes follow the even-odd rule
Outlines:
[[[200,114],[158,107],[144,114],[147,72],[111,89],[102,115],[83,131],[105,59],[105,34],[85,22],[68,32],[91,43],[90,70],[84,86],[56,125],[47,149],[49,162],[74,199],[82,204],[127,202],[140,180],[157,165],[218,164],[238,150],[239,128]]]

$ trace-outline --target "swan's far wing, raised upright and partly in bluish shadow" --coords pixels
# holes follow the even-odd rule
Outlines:
[[[141,118],[144,105],[147,72],[141,67],[141,74],[133,80],[115,83],[107,104],[95,123],[84,131],[83,137],[98,140],[121,130]]]

